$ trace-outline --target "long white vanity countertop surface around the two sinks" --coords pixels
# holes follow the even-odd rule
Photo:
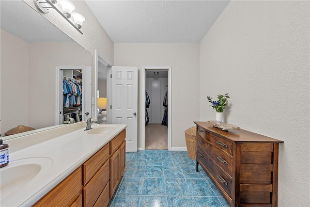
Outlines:
[[[63,130],[63,127],[39,132],[42,133],[39,134],[41,137],[48,133],[51,138],[38,142],[38,138],[31,140],[31,136],[28,136],[29,142],[33,142],[28,144],[29,146],[12,146],[17,150],[13,152],[10,150],[10,163],[6,167],[10,166],[10,164],[13,166],[14,163],[22,161],[21,159],[27,160],[27,158],[46,158],[47,165],[48,163],[49,165],[47,172],[38,174],[20,190],[4,199],[1,198],[0,206],[31,206],[127,127],[126,125],[93,125],[93,128],[115,127],[110,132],[93,135],[88,134],[89,131],[84,131],[84,125],[80,125],[83,128],[75,129],[57,137],[52,137],[51,133],[57,134],[59,131],[55,130]],[[38,133],[36,133],[36,136],[38,137]],[[14,142],[10,142],[10,140],[5,142],[9,144],[9,149],[10,144],[16,145],[25,142],[25,140],[21,140],[23,137],[16,139],[20,139],[21,142],[16,142],[16,140]],[[1,171],[6,167],[1,168],[0,175]]]

